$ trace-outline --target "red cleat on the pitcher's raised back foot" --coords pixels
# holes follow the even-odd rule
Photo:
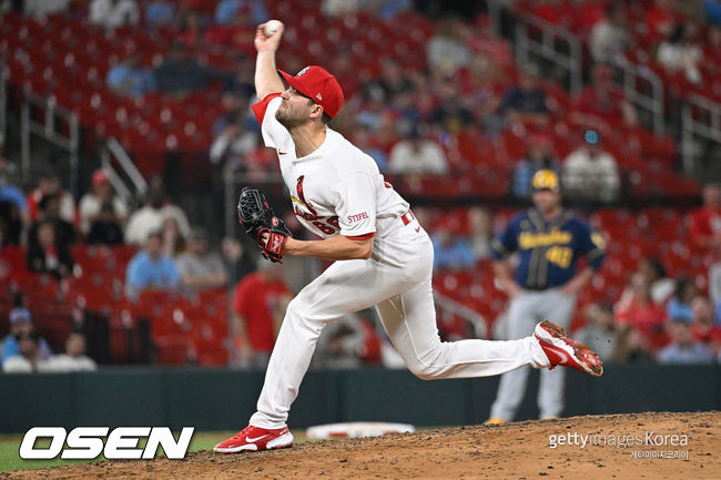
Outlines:
[[[562,327],[544,320],[536,325],[535,337],[551,362],[549,370],[557,365],[562,365],[592,377],[600,377],[603,374],[603,364],[598,355],[588,345],[567,337]]]

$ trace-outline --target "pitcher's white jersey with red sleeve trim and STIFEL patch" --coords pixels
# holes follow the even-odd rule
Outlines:
[[[329,127],[323,144],[298,159],[290,132],[275,119],[281,101],[280,94],[268,95],[253,110],[265,145],[277,151],[301,223],[323,238],[383,237],[383,219],[405,214],[408,203],[384,181],[369,155]]]

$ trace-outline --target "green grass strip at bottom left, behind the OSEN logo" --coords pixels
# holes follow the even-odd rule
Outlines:
[[[193,433],[189,451],[210,450],[216,443],[225,440],[236,431],[196,431]],[[296,437],[296,443],[305,441],[303,431],[293,431]],[[22,435],[0,435],[0,472],[10,470],[27,470],[32,468],[47,468],[74,463],[90,463],[99,460],[106,460],[104,457],[99,457],[95,460],[23,460],[20,458],[18,451],[20,450],[20,442]],[[47,448],[50,440],[39,440],[38,448]],[[139,446],[144,446],[145,441],[141,439]],[[161,449],[162,450],[162,449]]]

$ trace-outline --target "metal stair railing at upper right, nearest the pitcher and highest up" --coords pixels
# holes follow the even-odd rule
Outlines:
[[[516,20],[517,63],[530,63],[531,54],[555,63],[568,72],[570,92],[578,92],[582,86],[580,40],[572,32],[539,18],[524,16]],[[540,34],[540,39],[531,34],[532,30]],[[559,40],[566,43],[568,51],[559,49]]]

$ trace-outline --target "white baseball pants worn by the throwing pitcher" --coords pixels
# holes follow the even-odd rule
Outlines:
[[[374,305],[393,345],[422,379],[485,377],[549,365],[532,337],[441,343],[431,289],[433,244],[416,221],[405,226],[393,221],[388,232],[376,235],[372,258],[334,263],[291,302],[251,425],[284,427],[323,327]]]

